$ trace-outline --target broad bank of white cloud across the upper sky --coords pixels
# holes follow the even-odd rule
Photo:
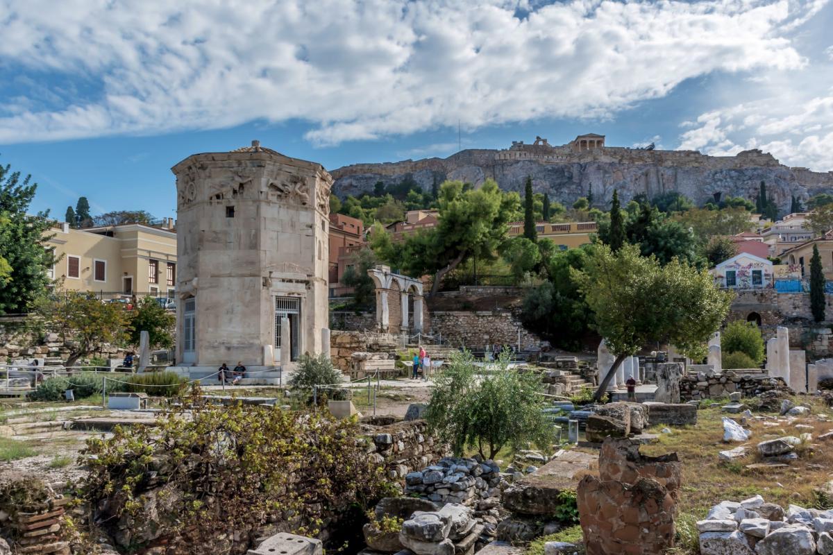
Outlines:
[[[334,144],[610,117],[710,72],[802,67],[785,30],[824,3],[0,0],[0,67],[38,99],[0,111],[0,142],[300,118]],[[44,75],[93,92],[37,94]]]

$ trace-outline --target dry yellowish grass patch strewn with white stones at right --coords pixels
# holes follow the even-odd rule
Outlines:
[[[717,453],[741,445],[723,443],[721,423],[722,416],[739,420],[740,415],[721,413],[717,405],[698,411],[696,426],[672,429],[673,434],[661,434],[660,430],[664,426],[651,429],[651,433],[660,436],[659,443],[644,446],[642,453],[658,455],[676,451],[679,455],[683,463],[681,502],[678,507],[681,514],[703,518],[712,505],[724,499],[741,501],[756,493],[760,493],[766,501],[779,503],[785,508],[789,503],[812,507],[817,504],[814,488],[833,479],[833,441],[816,440],[819,435],[833,430],[833,421],[820,419],[820,415],[831,418],[833,409],[812,398],[799,398],[796,403],[806,403],[808,400],[813,405],[811,416],[792,419],[790,423],[779,422],[781,425],[778,427],[766,427],[763,424],[765,421],[775,422],[777,414],[755,413],[771,418],[751,420],[746,425],[746,429],[752,430],[752,438],[742,445],[749,448],[750,454],[738,461],[721,462]],[[811,425],[813,429],[796,429],[796,424]],[[813,435],[812,444],[801,453],[801,458],[787,468],[746,468],[747,464],[762,462],[757,453],[757,444],[761,441],[785,435],[798,437],[808,431]]]

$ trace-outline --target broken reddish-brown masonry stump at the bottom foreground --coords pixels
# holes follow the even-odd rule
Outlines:
[[[656,555],[674,547],[682,465],[676,453],[646,457],[630,439],[606,439],[599,476],[576,492],[587,555]]]

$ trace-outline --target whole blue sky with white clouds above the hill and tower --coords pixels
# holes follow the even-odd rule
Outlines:
[[[546,137],[833,170],[830,0],[0,0],[0,164],[32,211],[175,216],[171,166],[335,169]]]

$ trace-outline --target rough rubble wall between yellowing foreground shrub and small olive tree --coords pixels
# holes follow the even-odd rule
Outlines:
[[[448,445],[426,433],[427,428],[425,420],[395,422],[392,416],[362,421],[362,429],[370,438],[368,456],[383,463],[392,479],[405,478],[407,473],[426,468],[450,453]]]

